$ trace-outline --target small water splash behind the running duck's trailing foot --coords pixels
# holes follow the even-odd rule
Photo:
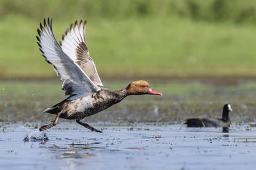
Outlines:
[[[32,131],[29,134],[26,134],[25,138],[23,139],[24,142],[28,142],[28,141],[48,141],[48,136],[46,134],[46,132],[40,132],[38,130],[36,131]]]

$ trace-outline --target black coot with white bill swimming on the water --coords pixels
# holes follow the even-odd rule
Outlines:
[[[233,111],[231,105],[225,104],[222,118],[189,118],[184,124],[188,127],[230,127],[229,111]]]

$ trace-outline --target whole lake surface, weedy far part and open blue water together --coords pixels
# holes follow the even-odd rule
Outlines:
[[[122,89],[130,81],[106,81]],[[163,96],[129,96],[92,117],[39,132],[65,99],[61,81],[0,81],[0,169],[255,169],[256,81],[149,81]],[[192,117],[221,117],[232,127],[187,128]],[[26,141],[24,141],[26,138]]]

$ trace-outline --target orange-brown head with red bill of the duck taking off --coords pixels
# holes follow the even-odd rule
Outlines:
[[[161,93],[151,89],[147,81],[143,81],[143,80],[133,81],[126,87],[126,91],[128,95],[141,95],[141,94],[154,94],[154,95],[160,95],[160,96],[162,95]]]

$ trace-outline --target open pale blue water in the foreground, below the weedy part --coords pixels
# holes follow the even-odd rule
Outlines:
[[[90,132],[73,123],[42,135],[33,127],[1,125],[0,169],[255,169],[256,128],[248,125],[104,127]],[[24,142],[27,134],[47,136]]]

